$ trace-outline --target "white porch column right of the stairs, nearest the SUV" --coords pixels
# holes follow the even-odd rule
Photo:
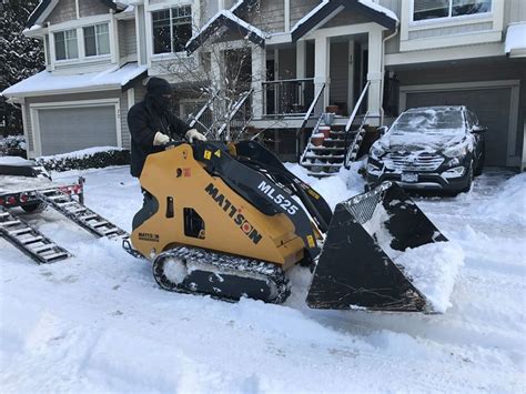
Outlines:
[[[367,111],[371,117],[380,117],[382,108],[382,29],[371,30],[368,32],[368,87]]]

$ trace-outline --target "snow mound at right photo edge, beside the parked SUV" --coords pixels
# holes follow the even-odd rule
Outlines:
[[[498,222],[526,225],[526,173],[507,180],[493,199],[478,205],[477,213]]]

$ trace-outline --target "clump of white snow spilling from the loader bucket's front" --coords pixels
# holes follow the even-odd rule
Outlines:
[[[407,249],[394,261],[404,267],[404,274],[425,295],[433,312],[444,313],[452,306],[449,297],[464,265],[464,251],[457,243],[435,242]]]

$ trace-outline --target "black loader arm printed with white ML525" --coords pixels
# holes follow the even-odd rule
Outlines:
[[[290,192],[260,171],[234,159],[222,142],[194,144],[194,159],[213,176],[221,178],[232,190],[266,215],[285,214],[303,240],[311,260],[320,253],[312,223]]]

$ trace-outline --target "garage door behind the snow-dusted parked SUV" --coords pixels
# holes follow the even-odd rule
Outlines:
[[[488,128],[486,139],[486,164],[506,165],[510,88],[476,89],[441,92],[407,93],[407,108],[427,105],[466,105]]]

